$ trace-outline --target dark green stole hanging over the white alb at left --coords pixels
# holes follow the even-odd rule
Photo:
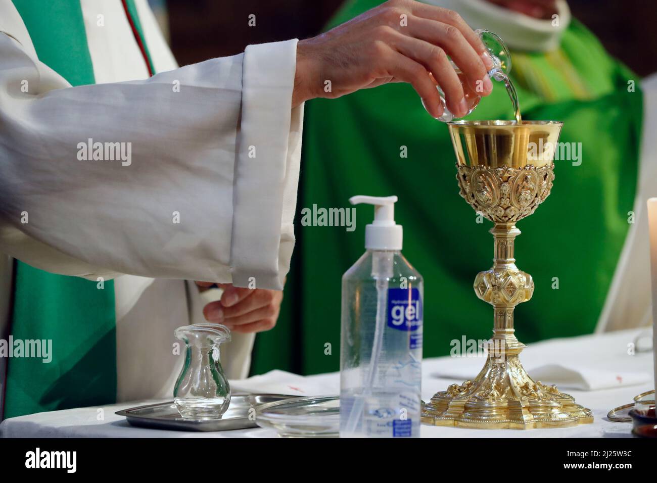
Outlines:
[[[72,85],[95,83],[79,0],[13,3],[39,60]],[[143,39],[135,5],[127,4]],[[14,341],[51,340],[52,361],[8,359],[3,417],[115,402],[114,282],[55,275],[18,260],[14,268],[10,333]]]

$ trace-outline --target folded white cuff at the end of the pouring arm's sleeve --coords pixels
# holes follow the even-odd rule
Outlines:
[[[297,42],[244,51],[231,240],[238,287],[280,290],[290,267],[304,108],[291,108]]]

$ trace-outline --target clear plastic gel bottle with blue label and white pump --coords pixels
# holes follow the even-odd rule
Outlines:
[[[367,251],[342,277],[340,436],[420,436],[422,277],[401,254],[397,196],[374,205]]]

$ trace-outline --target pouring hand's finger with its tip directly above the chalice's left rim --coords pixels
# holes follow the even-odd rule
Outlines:
[[[468,114],[468,103],[466,103],[464,97],[463,85],[461,85],[459,76],[457,76],[443,49],[424,40],[401,34],[397,34],[394,45],[399,53],[413,58],[432,73],[445,93],[445,100],[451,112],[459,118]],[[436,90],[435,87],[434,90]],[[426,104],[426,101],[424,104]]]

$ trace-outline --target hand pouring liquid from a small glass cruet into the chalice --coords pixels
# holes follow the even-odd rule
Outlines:
[[[297,45],[292,106],[314,97],[336,98],[388,82],[408,82],[429,114],[442,116],[435,78],[457,117],[468,106],[449,57],[466,89],[489,95],[493,61],[481,39],[457,12],[414,0],[390,0],[326,34]],[[326,91],[330,81],[330,91]]]

